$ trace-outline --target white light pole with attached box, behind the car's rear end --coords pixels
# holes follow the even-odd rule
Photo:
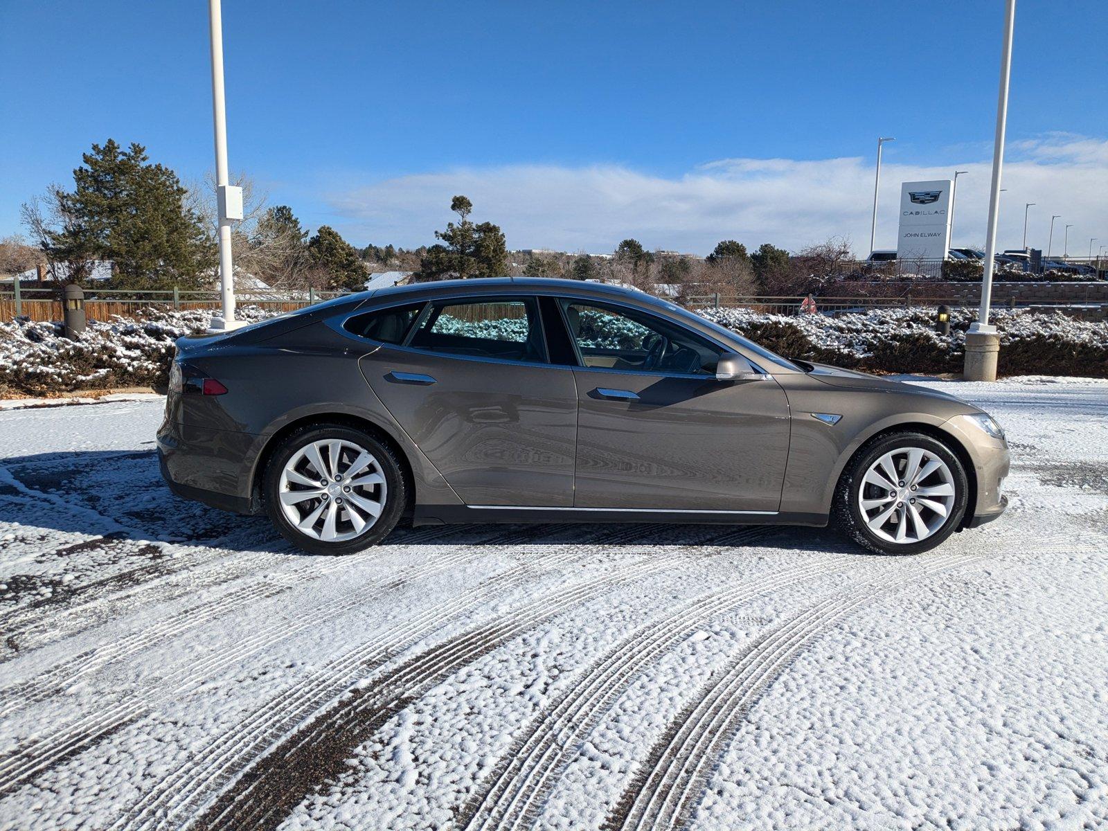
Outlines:
[[[228,184],[227,109],[223,94],[223,10],[208,0],[212,37],[212,116],[215,124],[215,192],[219,214],[219,298],[223,318],[212,318],[212,330],[242,326],[235,320],[235,267],[230,258],[230,223],[243,218],[243,189]]]

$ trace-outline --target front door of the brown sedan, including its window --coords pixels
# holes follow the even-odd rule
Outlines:
[[[724,350],[673,321],[561,302],[583,365],[576,507],[779,509],[789,408],[777,381],[717,381]]]

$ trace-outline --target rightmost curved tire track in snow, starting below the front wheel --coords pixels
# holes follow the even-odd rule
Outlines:
[[[977,560],[963,554],[929,557],[911,574],[870,581],[845,595],[828,598],[790,616],[759,638],[674,719],[609,812],[604,824],[606,831],[679,827],[702,792],[709,766],[726,749],[758,695],[804,647],[844,615],[880,595],[911,585],[922,576]]]

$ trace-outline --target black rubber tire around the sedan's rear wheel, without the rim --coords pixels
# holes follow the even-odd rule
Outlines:
[[[285,515],[280,505],[280,478],[285,465],[300,449],[321,440],[340,439],[369,451],[384,479],[384,505],[380,515],[358,536],[341,542],[329,542],[298,529]],[[341,454],[339,454],[341,456]],[[401,462],[388,445],[369,433],[341,424],[308,424],[289,433],[274,450],[266,464],[261,500],[269,521],[280,535],[311,554],[352,554],[381,542],[400,521],[408,504],[408,488],[401,473]]]

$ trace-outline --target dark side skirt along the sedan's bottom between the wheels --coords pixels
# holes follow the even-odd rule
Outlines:
[[[543,507],[537,505],[416,505],[413,525],[536,522],[669,522],[699,525],[828,524],[827,514],[778,511],[690,511],[630,507]]]

